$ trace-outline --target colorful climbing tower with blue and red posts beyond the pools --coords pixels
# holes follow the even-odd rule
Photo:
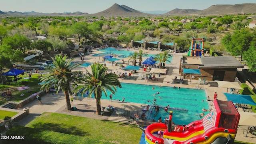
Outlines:
[[[188,56],[204,56],[204,40],[205,38],[192,37]]]

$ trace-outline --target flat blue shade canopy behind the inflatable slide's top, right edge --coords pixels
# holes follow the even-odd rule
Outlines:
[[[256,102],[252,100],[252,97],[250,95],[242,95],[242,94],[228,94],[223,93],[228,100],[231,100],[234,103],[238,104],[251,104],[256,106]]]

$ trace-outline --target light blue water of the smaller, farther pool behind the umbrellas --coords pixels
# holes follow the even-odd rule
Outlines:
[[[101,51],[101,52],[105,52],[105,53],[101,53],[101,54],[94,54],[92,56],[105,56],[105,55],[110,55],[110,54],[116,54],[118,55],[118,58],[122,59],[122,58],[126,58],[128,57],[129,55],[131,55],[133,53],[133,51],[129,51],[129,50],[124,50],[124,49],[120,49],[120,48],[104,48],[104,49],[101,49],[101,50],[98,50],[98,51]],[[147,57],[155,57],[156,55],[155,54],[148,54]],[[169,59],[170,62],[172,60],[172,57]],[[170,62],[167,62],[167,63],[170,63]]]

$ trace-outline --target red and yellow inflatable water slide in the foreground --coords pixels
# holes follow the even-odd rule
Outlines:
[[[144,129],[145,142],[146,144],[232,144],[236,137],[239,119],[240,114],[232,101],[214,99],[209,114],[186,126],[174,126],[170,111],[168,124],[154,123]]]

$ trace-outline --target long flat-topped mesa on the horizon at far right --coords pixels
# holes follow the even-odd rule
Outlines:
[[[205,10],[200,10],[195,12],[194,14],[238,14],[238,13],[246,13],[246,14],[254,14],[256,12],[256,4],[218,4],[212,5]]]

